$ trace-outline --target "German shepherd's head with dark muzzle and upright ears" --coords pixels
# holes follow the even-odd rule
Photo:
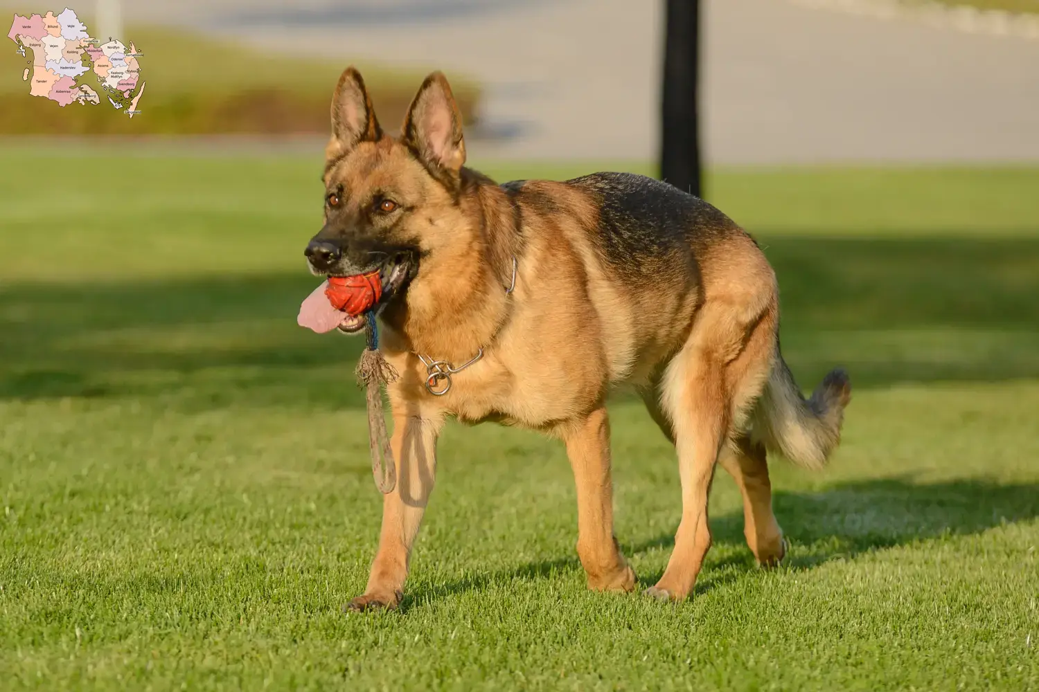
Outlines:
[[[348,67],[331,102],[324,226],[307,246],[311,272],[378,271],[381,302],[402,297],[422,258],[457,238],[464,162],[461,115],[444,75],[426,78],[400,136],[390,137],[379,127],[361,74]],[[358,320],[341,329],[363,327]]]

